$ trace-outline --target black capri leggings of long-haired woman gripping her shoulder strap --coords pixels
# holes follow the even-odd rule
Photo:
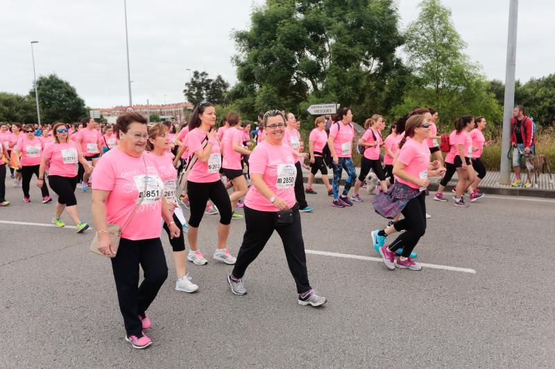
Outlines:
[[[227,226],[231,223],[231,201],[228,191],[220,180],[208,183],[187,181],[187,195],[191,204],[189,226],[198,228],[203,219],[208,199],[212,200],[220,212],[220,223]]]

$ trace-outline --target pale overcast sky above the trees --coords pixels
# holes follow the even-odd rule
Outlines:
[[[236,82],[232,30],[248,27],[263,0],[128,0],[133,103],[183,101],[189,71]],[[419,0],[400,0],[403,27]],[[504,80],[509,0],[443,0],[466,53],[488,78]],[[0,1],[0,91],[27,93],[37,73],[56,73],[89,107],[127,105],[123,0]],[[516,77],[554,72],[555,1],[520,1]]]

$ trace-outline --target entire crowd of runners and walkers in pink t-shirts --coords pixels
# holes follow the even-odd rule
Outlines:
[[[515,120],[522,129],[513,134],[513,146],[530,151],[527,120],[522,109],[518,113],[520,120],[517,116]],[[320,306],[326,298],[309,283],[300,213],[345,210],[309,206],[310,197],[318,195],[313,188],[318,172],[327,192],[323,195],[341,209],[364,201],[359,191],[370,186],[368,176],[373,173],[377,186],[369,188],[375,196],[368,211],[382,215],[384,227],[369,233],[369,249],[382,256],[388,269],[422,268],[414,260],[418,258],[414,249],[431,217],[425,201],[430,177],[443,177],[432,197],[435,201],[449,200],[445,186],[455,173],[454,206],[466,208],[468,201],[484,197],[479,183],[486,169],[480,157],[491,142],[484,137],[483,116],[457,118],[447,136],[438,134],[438,111],[432,107],[416,107],[389,125],[375,114],[365,121],[359,139],[352,117],[348,107],[317,117],[307,145],[291,112],[266,111],[257,123],[244,122],[233,112],[218,120],[208,101],[200,102],[182,125],[169,121],[148,125],[146,117],[135,111],[120,116],[115,125],[102,127],[89,117],[74,125],[1,124],[0,206],[10,205],[5,199],[9,168],[13,186],[22,188],[25,203],[36,198],[49,204],[51,191],[56,193],[51,219],[56,226],[65,226],[64,210],[77,233],[94,222],[97,250],[112,261],[126,340],[135,348],[152,343],[144,334],[151,327],[146,310],[167,279],[162,229],[172,247],[178,291],[199,289],[186,264],[187,260],[208,263],[206,250],[198,245],[200,231],[217,233],[212,260],[233,265],[226,280],[232,294],[239,296],[247,292],[246,269],[275,231],[283,242],[298,303]],[[361,155],[358,174],[354,152]],[[306,188],[303,168],[309,170]],[[33,174],[38,189],[32,189]],[[92,190],[93,219],[87,222],[79,217],[76,190]],[[219,215],[215,229],[200,230],[205,214]],[[228,249],[234,219],[246,223],[237,256]],[[119,242],[112,237],[113,225],[119,226]],[[398,233],[395,238],[394,233]],[[140,285],[139,265],[144,270]]]

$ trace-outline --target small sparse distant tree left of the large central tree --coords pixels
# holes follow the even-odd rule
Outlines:
[[[193,72],[193,77],[185,84],[183,90],[187,101],[193,105],[197,105],[202,100],[208,100],[214,105],[226,105],[228,100],[225,94],[230,84],[225,82],[221,75],[217,75],[215,80],[207,77],[206,72]]]

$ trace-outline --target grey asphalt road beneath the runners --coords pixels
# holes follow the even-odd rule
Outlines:
[[[555,366],[555,201],[490,196],[456,208],[427,199],[428,229],[418,260],[476,273],[424,268],[389,271],[374,259],[307,254],[321,308],[297,304],[282,244],[274,235],[246,273],[246,296],[231,294],[232,267],[214,262],[188,271],[200,289],[173,289],[175,269],[165,233],[169,278],[149,309],[153,345],[134,350],[123,321],[110,262],[88,253],[93,231],[77,235],[49,224],[53,204],[24,204],[7,180],[0,208],[0,367],[3,368],[296,368]],[[370,231],[384,226],[370,195],[352,208],[330,206],[325,188],[307,195],[306,249],[375,257]],[[90,194],[78,191],[90,221]],[[241,211],[241,210],[239,210]],[[67,216],[62,216],[69,224]],[[215,247],[217,216],[205,215],[200,246]],[[232,221],[237,255],[244,222]],[[552,245],[552,246],[549,246]]]

